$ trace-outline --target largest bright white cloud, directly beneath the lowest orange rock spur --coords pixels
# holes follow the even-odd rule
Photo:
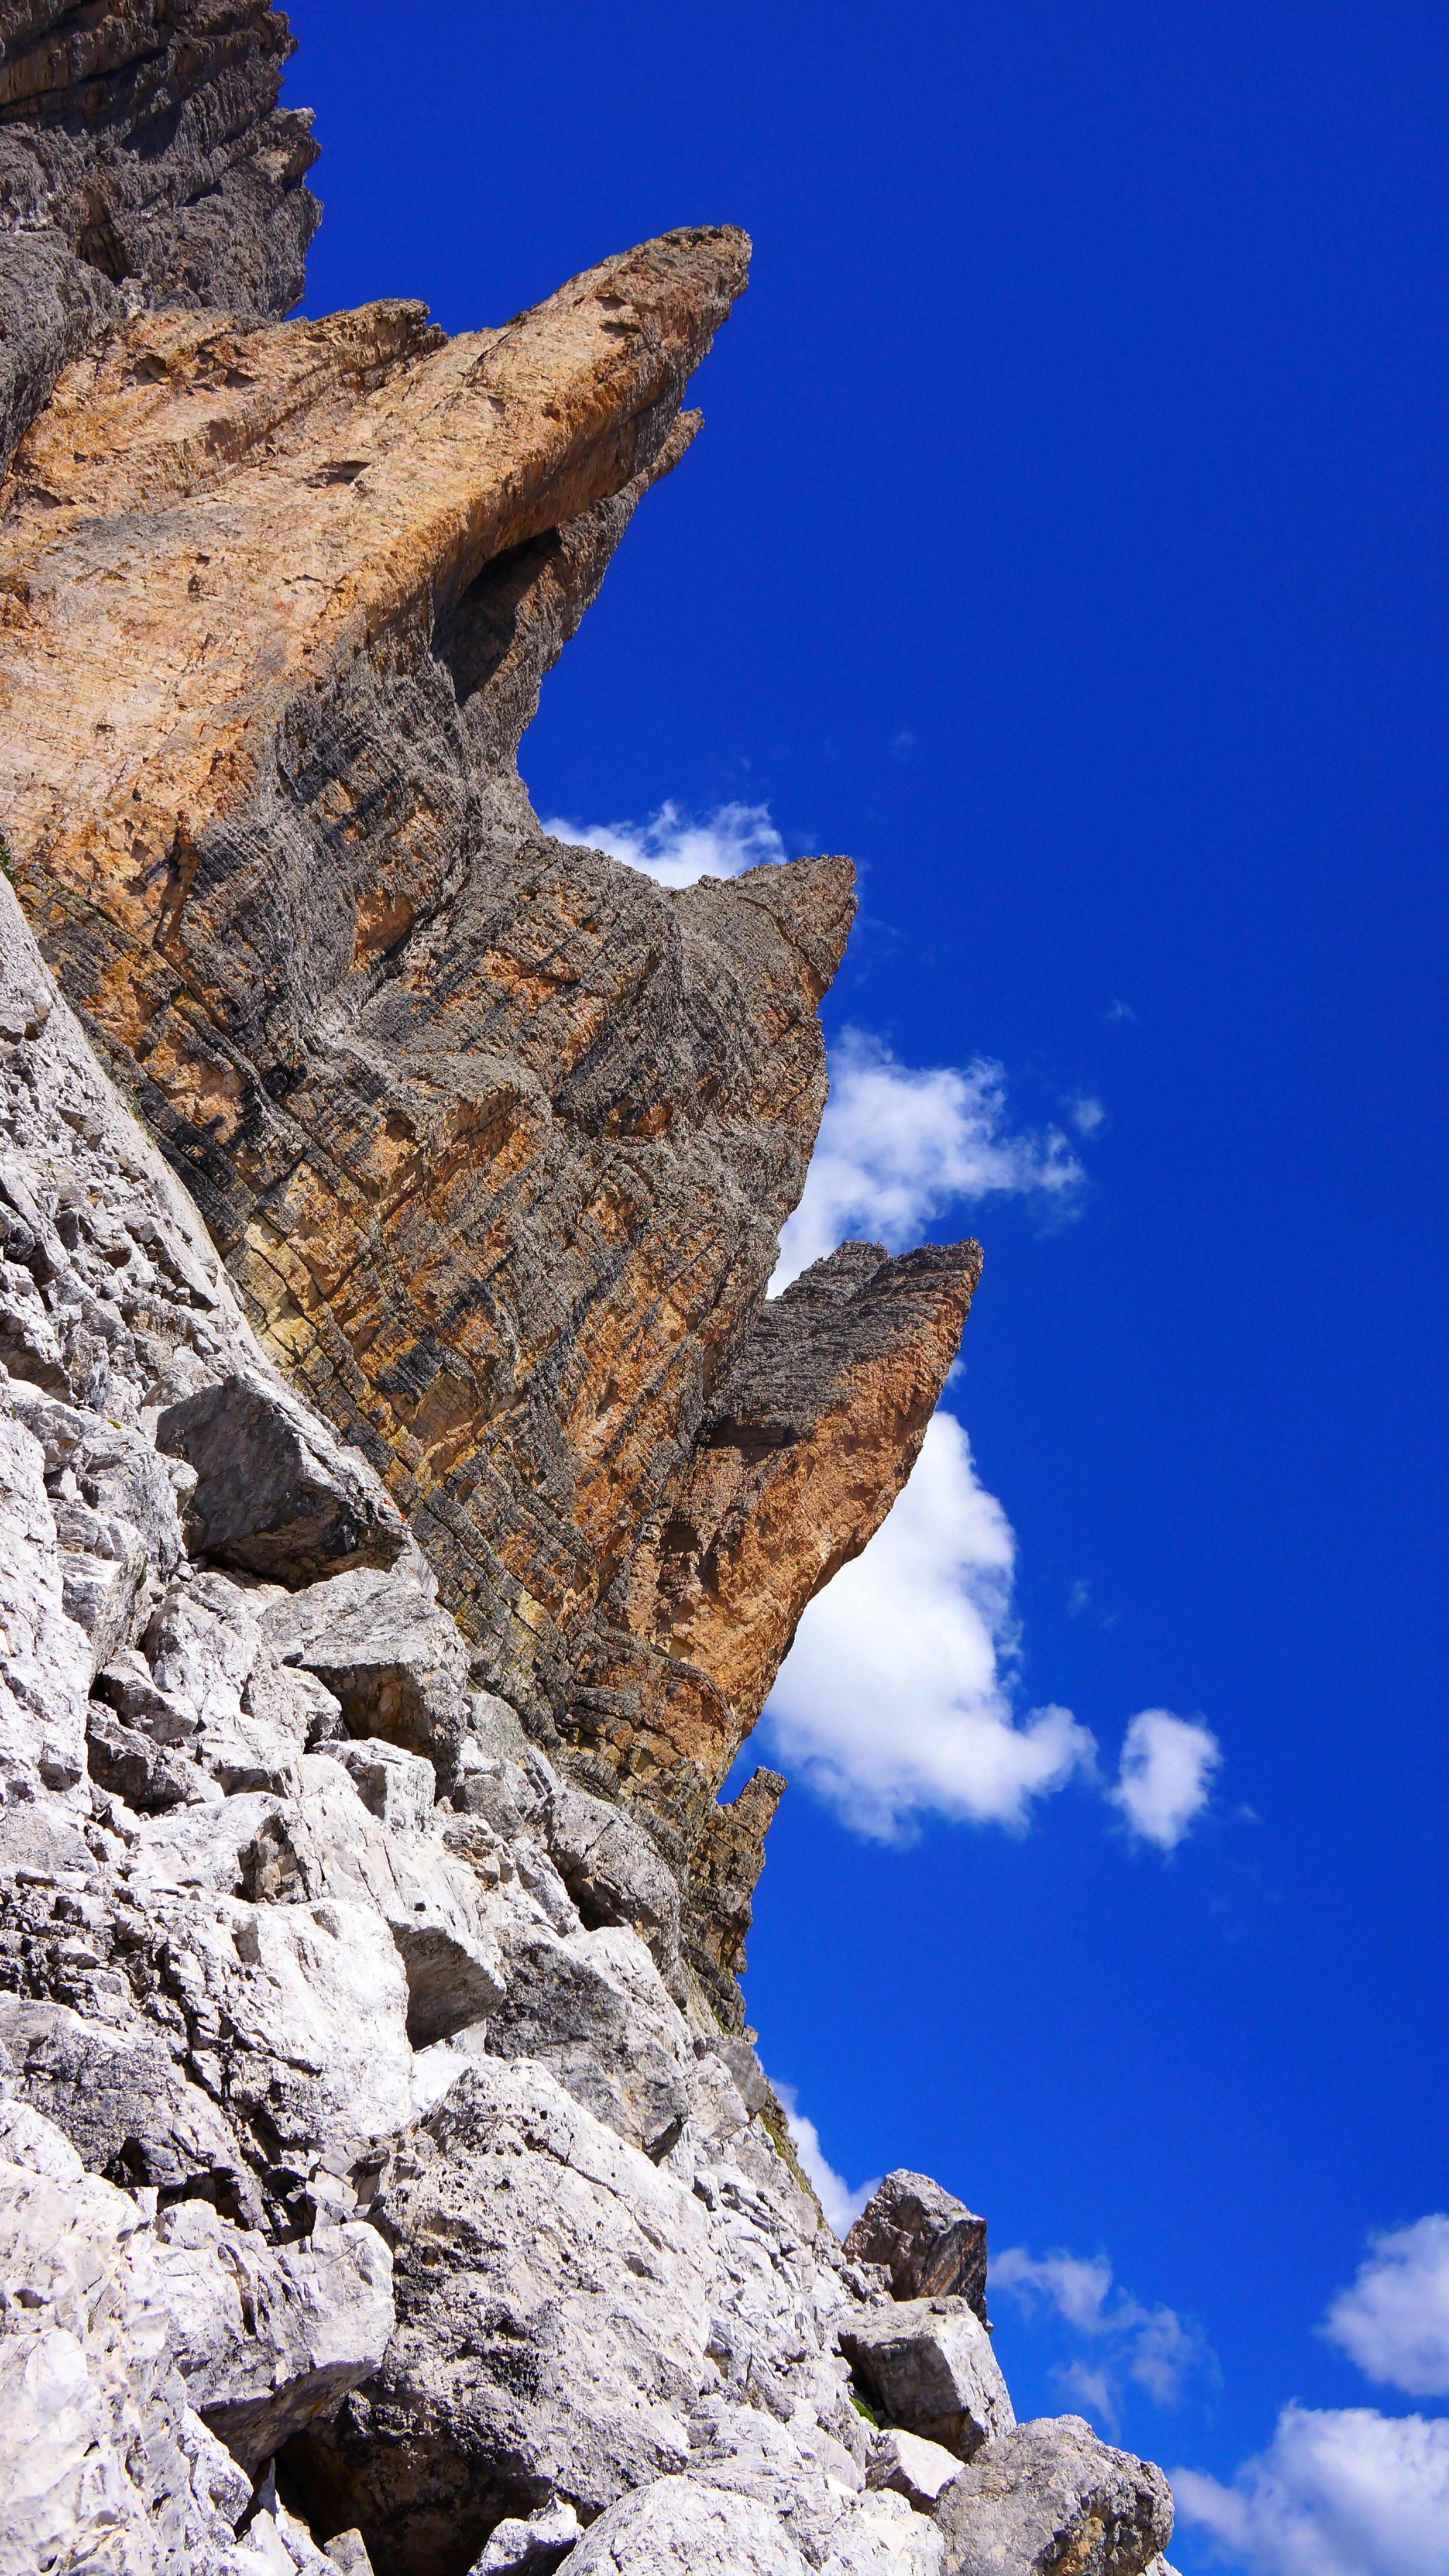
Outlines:
[[[927,1811],[1022,1826],[1032,1798],[1091,1770],[1068,1708],[1011,1713],[1014,1538],[952,1414],[854,1564],[811,1602],[767,1708],[785,1762],[860,1834]]]

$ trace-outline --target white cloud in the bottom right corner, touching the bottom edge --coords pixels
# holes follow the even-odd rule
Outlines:
[[[1449,2421],[1284,2406],[1233,2486],[1171,2473],[1179,2514],[1253,2576],[1449,2576]]]

